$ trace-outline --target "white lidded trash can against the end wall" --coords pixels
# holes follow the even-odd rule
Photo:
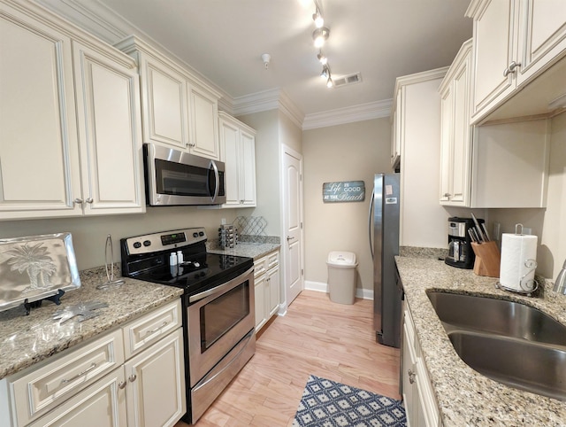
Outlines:
[[[340,304],[354,304],[356,298],[356,253],[333,251],[326,260],[330,300]]]

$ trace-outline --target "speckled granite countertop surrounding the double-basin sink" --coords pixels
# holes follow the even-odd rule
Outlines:
[[[395,261],[444,426],[566,425],[566,402],[497,383],[466,365],[455,353],[425,291],[516,300],[539,308],[563,324],[566,296],[551,291],[548,282],[538,298],[496,289],[496,278],[476,276],[472,270],[452,268],[441,260],[395,257]]]

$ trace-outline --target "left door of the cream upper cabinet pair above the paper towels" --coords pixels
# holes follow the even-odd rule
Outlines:
[[[513,34],[518,4],[513,0],[485,0],[474,16],[472,121],[515,89],[515,74],[504,75],[504,71],[517,60],[516,37]]]

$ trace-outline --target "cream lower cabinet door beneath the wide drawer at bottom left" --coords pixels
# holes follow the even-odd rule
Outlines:
[[[126,392],[121,388],[124,384],[124,369],[116,369],[30,427],[124,427],[127,425]]]

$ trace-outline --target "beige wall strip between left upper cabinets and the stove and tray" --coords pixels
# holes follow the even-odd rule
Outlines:
[[[209,240],[218,238],[222,218],[230,223],[236,217],[234,209],[204,210],[195,206],[150,207],[146,214],[112,215],[51,220],[0,221],[0,238],[35,236],[68,231],[73,235],[73,247],[80,270],[104,264],[104,243],[112,235],[114,260],[119,262],[119,239],[141,234],[205,227]]]

